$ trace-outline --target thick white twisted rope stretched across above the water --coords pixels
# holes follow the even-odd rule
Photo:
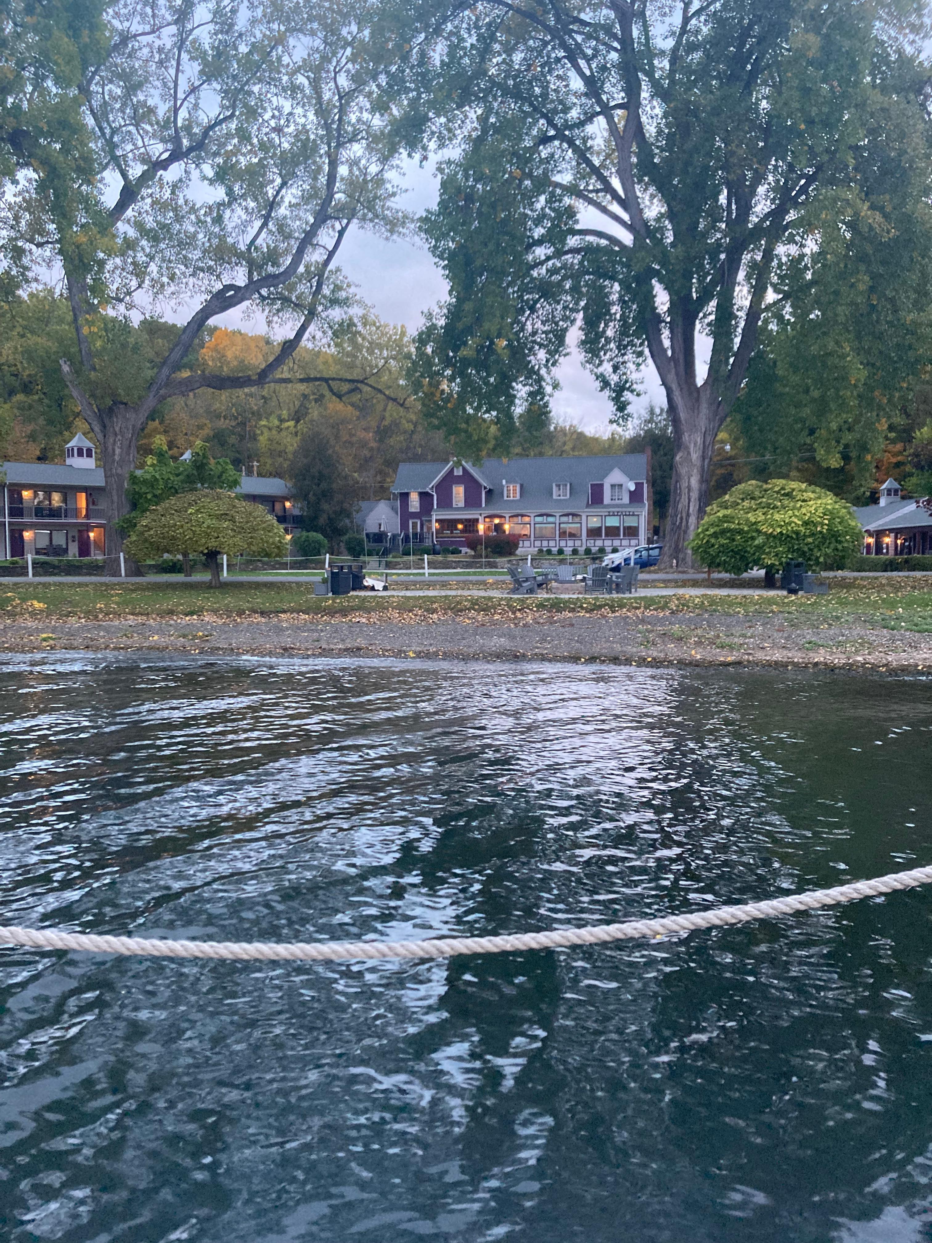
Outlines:
[[[835,889],[816,889],[793,897],[773,897],[746,906],[720,906],[692,915],[670,915],[659,920],[629,920],[626,924],[599,924],[587,929],[558,929],[554,932],[521,932],[514,936],[436,937],[430,941],[322,941],[283,943],[263,941],[145,941],[129,936],[88,936],[56,929],[0,927],[0,945],[21,945],[34,950],[86,950],[91,953],[140,953],[160,958],[292,958],[327,962],[345,958],[447,958],[456,953],[505,953],[509,950],[557,950],[570,945],[604,945],[631,937],[657,937],[667,932],[696,932],[700,929],[747,924],[749,920],[775,919],[821,906],[855,902],[859,897],[877,897],[900,889],[932,883],[932,868],[895,871],[876,880],[859,880]]]

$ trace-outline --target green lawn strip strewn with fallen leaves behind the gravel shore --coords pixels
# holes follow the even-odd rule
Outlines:
[[[475,617],[507,620],[565,614],[779,614],[788,625],[860,623],[891,630],[932,631],[932,576],[927,579],[833,583],[828,595],[549,597],[512,598],[442,595],[406,598],[403,593],[357,593],[314,597],[311,583],[242,583],[227,579],[215,590],[206,579],[188,582],[97,583],[93,579],[0,580],[0,618],[10,620],[121,620],[123,618],[237,618],[303,614],[334,620],[358,614],[384,614],[413,620]]]

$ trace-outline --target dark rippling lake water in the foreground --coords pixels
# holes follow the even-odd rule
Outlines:
[[[932,682],[47,654],[0,922],[496,933],[932,861]],[[0,950],[9,1243],[932,1238],[932,892],[426,963]]]

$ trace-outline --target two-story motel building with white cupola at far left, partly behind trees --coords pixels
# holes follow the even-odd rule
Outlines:
[[[4,462],[0,547],[11,557],[103,557],[107,488],[94,446],[80,433],[65,447],[65,465]],[[282,479],[244,475],[236,490],[261,505],[291,537],[301,527],[299,507]]]

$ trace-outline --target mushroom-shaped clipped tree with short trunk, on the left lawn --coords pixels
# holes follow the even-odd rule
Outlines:
[[[219,557],[283,557],[285,532],[261,506],[232,492],[181,492],[139,518],[127,541],[132,557],[142,561],[163,553],[203,553],[211,587],[220,587]]]

